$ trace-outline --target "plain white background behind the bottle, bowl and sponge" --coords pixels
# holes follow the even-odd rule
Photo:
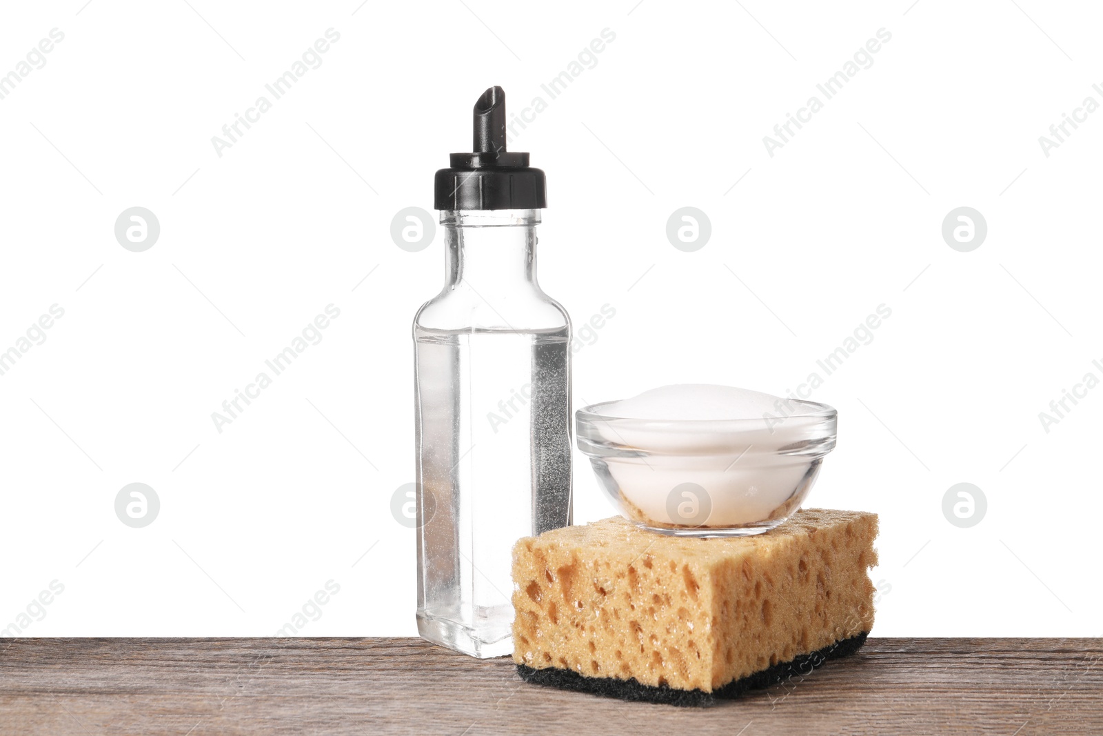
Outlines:
[[[85,2],[0,22],[0,74],[65,34],[0,100],[0,350],[65,310],[0,376],[0,627],[56,579],[24,634],[270,636],[332,579],[301,633],[416,633],[415,533],[389,502],[414,479],[410,322],[443,254],[439,228],[407,253],[389,225],[431,210],[499,84],[511,110],[548,103],[511,146],[548,177],[542,285],[576,326],[615,309],[575,356],[576,407],[784,393],[884,303],[813,395],[839,440],[806,504],[880,514],[875,636],[1100,633],[1103,388],[1038,417],[1103,377],[1103,111],[1038,142],[1103,103],[1091,3]],[[212,136],[330,28],[322,65],[218,157]],[[136,205],[161,225],[143,253],[114,234]],[[713,226],[695,253],[665,236],[686,205]],[[963,205],[988,225],[971,253],[941,235]],[[219,434],[212,412],[330,303],[324,339]],[[115,515],[131,482],[161,501],[143,529]],[[970,529],[942,513],[957,482],[987,498]],[[612,513],[578,457],[575,488],[577,522]]]

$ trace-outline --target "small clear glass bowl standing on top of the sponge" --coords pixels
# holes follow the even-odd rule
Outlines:
[[[785,521],[835,448],[837,413],[790,399],[788,415],[750,419],[630,419],[575,413],[578,449],[613,506],[638,526],[676,536],[746,536]]]

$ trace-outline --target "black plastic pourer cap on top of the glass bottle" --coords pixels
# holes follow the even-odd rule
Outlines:
[[[437,210],[538,210],[547,206],[544,172],[528,166],[528,153],[505,150],[505,92],[491,87],[475,102],[474,149],[452,153],[451,167],[437,172]]]

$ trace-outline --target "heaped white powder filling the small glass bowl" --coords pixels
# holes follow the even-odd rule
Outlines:
[[[756,524],[773,519],[794,494],[811,489],[818,459],[834,446],[834,419],[832,441],[822,452],[806,455],[792,448],[824,438],[823,409],[746,388],[663,386],[600,409],[603,417],[644,423],[604,427],[597,423],[607,440],[644,456],[593,459],[596,467],[606,466],[622,501],[643,516],[636,521],[685,524],[685,519],[671,516],[672,508],[682,506],[672,506],[670,499],[683,483],[695,483],[710,506],[707,520],[694,520],[697,524]],[[675,424],[658,424],[665,422]],[[678,426],[679,422],[687,424]]]

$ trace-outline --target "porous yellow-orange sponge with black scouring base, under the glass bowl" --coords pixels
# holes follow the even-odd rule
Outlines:
[[[514,661],[531,682],[706,705],[852,653],[874,625],[877,515],[806,509],[756,536],[620,516],[513,550]]]

